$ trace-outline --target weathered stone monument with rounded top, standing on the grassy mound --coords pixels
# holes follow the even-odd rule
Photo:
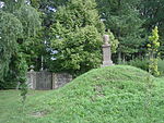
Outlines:
[[[104,45],[102,46],[103,47],[103,65],[102,66],[109,66],[109,65],[113,65],[110,45],[108,44],[109,36],[104,35],[103,40],[104,40]]]

